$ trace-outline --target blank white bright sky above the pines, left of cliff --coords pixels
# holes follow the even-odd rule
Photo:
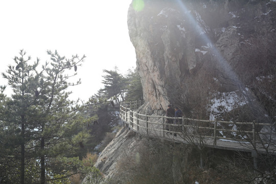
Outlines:
[[[13,64],[14,56],[24,49],[40,59],[50,57],[47,50],[61,56],[86,55],[78,68],[72,99],[88,100],[102,87],[102,71],[118,66],[125,74],[135,68],[135,51],[127,28],[131,0],[9,0],[0,2],[0,72]],[[0,78],[0,85],[6,81]],[[7,90],[7,93],[11,93]]]

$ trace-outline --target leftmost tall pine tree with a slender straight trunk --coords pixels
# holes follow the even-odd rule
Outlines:
[[[11,98],[5,99],[5,104],[3,104],[6,108],[2,122],[5,131],[2,135],[6,135],[5,140],[10,140],[4,142],[7,148],[6,153],[12,154],[14,158],[20,157],[20,183],[24,184],[25,159],[32,152],[32,147],[28,145],[28,142],[36,133],[31,122],[35,112],[30,112],[34,106],[37,79],[41,73],[36,71],[38,59],[30,65],[31,57],[25,59],[26,52],[21,50],[19,55],[14,58],[16,66],[9,65],[7,74],[2,74],[13,90]]]

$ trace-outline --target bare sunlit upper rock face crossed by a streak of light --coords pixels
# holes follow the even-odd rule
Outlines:
[[[242,60],[240,50],[247,39],[275,33],[275,4],[251,0],[145,0],[144,8],[138,11],[132,3],[129,36],[145,100],[153,109],[165,110],[173,103],[170,90],[193,78],[204,61],[212,58],[217,58],[225,76],[238,83],[231,65]],[[224,85],[226,82],[220,79],[220,85]],[[224,89],[233,90],[235,85],[224,85]]]

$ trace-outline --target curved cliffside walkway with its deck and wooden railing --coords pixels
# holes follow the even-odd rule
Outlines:
[[[258,154],[276,154],[275,143],[272,144],[271,140],[271,135],[275,133],[261,131],[264,126],[271,130],[270,124],[217,120],[212,122],[183,117],[173,118],[178,124],[170,124],[168,127],[166,120],[169,117],[148,116],[135,111],[141,105],[139,102],[121,104],[120,118],[127,127],[142,135],[192,144],[202,149],[210,147],[251,152],[254,157]]]

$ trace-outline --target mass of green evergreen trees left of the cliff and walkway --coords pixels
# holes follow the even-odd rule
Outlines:
[[[139,74],[129,70],[124,77],[117,68],[104,70],[104,88],[80,105],[68,99],[68,86],[80,84],[69,80],[85,56],[47,53],[51,60],[40,64],[21,50],[2,73],[13,93],[6,96],[6,86],[0,86],[0,182],[70,183],[70,177],[87,173],[99,182],[100,171],[82,158],[113,136],[106,134],[116,126],[110,122],[118,107],[111,101],[143,99]]]

